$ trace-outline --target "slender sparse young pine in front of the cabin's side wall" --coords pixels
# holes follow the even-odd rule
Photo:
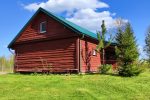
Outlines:
[[[107,33],[107,29],[105,26],[105,21],[102,21],[102,25],[101,25],[101,32],[97,32],[97,38],[98,38],[98,45],[96,47],[97,52],[102,52],[102,64],[105,64],[105,49],[110,46],[113,38],[112,35],[110,35],[110,38],[108,40],[108,42],[106,43],[106,33]]]

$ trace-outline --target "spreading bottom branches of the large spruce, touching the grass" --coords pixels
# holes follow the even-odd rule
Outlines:
[[[118,73],[120,76],[124,77],[131,77],[137,76],[142,72],[142,68],[138,65],[130,64],[130,65],[123,65],[118,68]]]

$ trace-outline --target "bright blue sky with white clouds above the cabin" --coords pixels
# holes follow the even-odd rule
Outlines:
[[[55,0],[1,0],[0,56],[8,56],[11,54],[7,49],[7,45],[39,6],[67,17],[68,20],[76,22],[91,31],[96,31],[97,28],[100,27],[100,22],[99,24],[94,23],[95,19],[98,19],[96,17],[100,16],[100,19],[106,19],[108,27],[113,26],[112,22],[115,18],[122,17],[131,23],[140,47],[144,46],[146,29],[150,25],[150,0],[87,0],[86,3],[81,2],[81,6],[86,5],[83,7],[79,6],[77,0],[69,0],[70,4],[72,4],[71,6],[65,3],[65,1],[68,0],[62,1],[64,1],[62,4],[57,5],[58,2],[55,2]],[[91,3],[90,1],[95,2]],[[88,2],[91,5],[88,6]],[[51,3],[53,3],[53,6]],[[63,7],[63,9],[61,7]],[[93,16],[90,14],[93,14]],[[90,18],[91,21],[86,21],[87,18]],[[83,24],[85,21],[86,25]]]

